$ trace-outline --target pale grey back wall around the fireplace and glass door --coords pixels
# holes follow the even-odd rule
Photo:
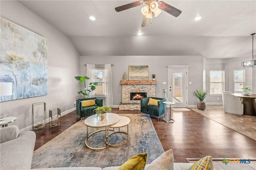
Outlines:
[[[124,71],[128,75],[128,65],[148,65],[149,79],[156,74],[156,97],[163,97],[162,89],[168,90],[168,68],[167,65],[191,65],[188,68],[188,105],[196,105],[197,99],[192,91],[202,89],[203,79],[203,57],[202,56],[81,56],[80,73],[85,75],[84,64],[113,64],[112,66],[112,89],[113,105],[122,102],[122,86],[120,81]],[[163,85],[165,81],[167,84]],[[168,97],[168,93],[167,93]]]

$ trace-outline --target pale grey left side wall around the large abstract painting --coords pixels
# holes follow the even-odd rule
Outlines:
[[[32,125],[32,103],[45,102],[47,118],[49,109],[74,110],[80,89],[74,79],[80,73],[80,56],[70,39],[17,1],[1,1],[0,10],[1,17],[48,39],[48,95],[1,102],[1,113],[17,117],[10,125],[22,129]]]

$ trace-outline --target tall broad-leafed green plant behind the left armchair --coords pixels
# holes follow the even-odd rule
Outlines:
[[[88,98],[90,92],[94,91],[96,89],[96,86],[98,85],[98,82],[89,83],[89,88],[87,89],[86,80],[89,80],[89,77],[76,76],[75,79],[78,80],[80,84],[84,83],[84,89],[78,92],[78,94],[82,94],[84,98]]]

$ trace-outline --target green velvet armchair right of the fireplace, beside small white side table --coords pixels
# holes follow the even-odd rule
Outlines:
[[[166,105],[163,103],[166,101],[166,99],[157,98],[157,97],[151,97],[152,99],[159,100],[157,102],[157,106],[154,105],[148,105],[149,97],[144,97],[140,99],[140,112],[146,113],[148,115],[152,115],[158,118],[166,112]]]

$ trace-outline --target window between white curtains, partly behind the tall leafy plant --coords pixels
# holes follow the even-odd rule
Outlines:
[[[93,91],[94,96],[107,95],[107,70],[94,69],[94,82],[98,82],[96,89]]]

